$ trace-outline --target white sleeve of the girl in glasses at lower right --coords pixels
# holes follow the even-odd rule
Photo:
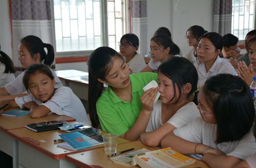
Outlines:
[[[183,127],[174,130],[175,135],[194,143],[202,143],[202,126],[201,117]]]

